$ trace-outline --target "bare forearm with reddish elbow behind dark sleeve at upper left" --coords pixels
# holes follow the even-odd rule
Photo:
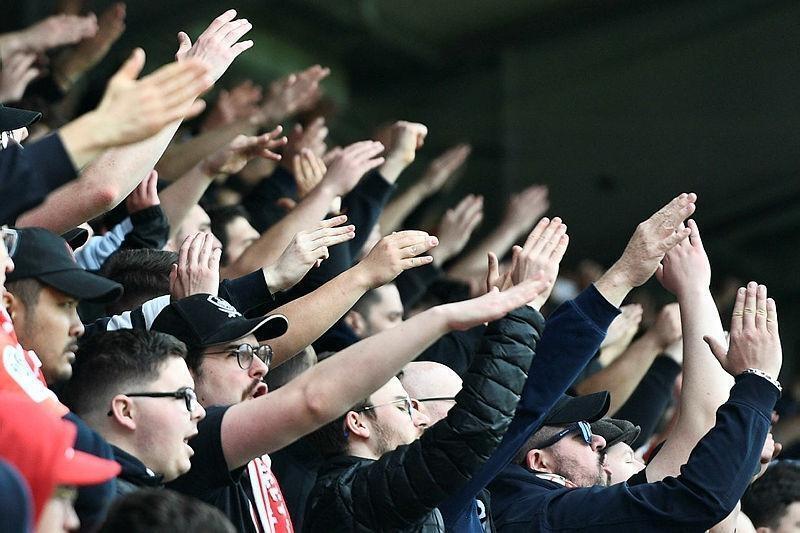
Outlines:
[[[179,124],[175,121],[149,139],[107,150],[77,181],[55,190],[41,206],[22,215],[20,225],[63,233],[113,209],[147,176]]]

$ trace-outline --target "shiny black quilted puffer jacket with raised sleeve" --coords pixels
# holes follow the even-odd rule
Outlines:
[[[323,466],[304,531],[444,531],[436,507],[503,438],[543,327],[529,307],[493,322],[447,418],[377,461],[340,456]]]

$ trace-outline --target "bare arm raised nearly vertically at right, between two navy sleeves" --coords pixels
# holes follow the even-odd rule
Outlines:
[[[720,342],[725,337],[709,288],[711,266],[697,224],[690,220],[688,230],[691,235],[666,255],[658,273],[662,285],[675,294],[681,308],[683,385],[678,421],[648,465],[648,480],[677,475],[697,442],[714,425],[717,409],[725,403],[733,385],[703,342],[704,335]],[[756,290],[755,284],[748,286],[753,302]]]

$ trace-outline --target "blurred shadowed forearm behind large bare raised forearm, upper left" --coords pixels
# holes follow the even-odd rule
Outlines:
[[[249,120],[237,120],[222,128],[201,133],[188,141],[172,143],[158,161],[156,170],[167,180],[183,176],[199,161],[230,143],[237,135],[251,135],[255,130]]]

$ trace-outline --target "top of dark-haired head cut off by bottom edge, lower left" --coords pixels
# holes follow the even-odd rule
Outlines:
[[[235,533],[233,524],[211,505],[169,489],[144,489],[114,502],[99,533]]]

